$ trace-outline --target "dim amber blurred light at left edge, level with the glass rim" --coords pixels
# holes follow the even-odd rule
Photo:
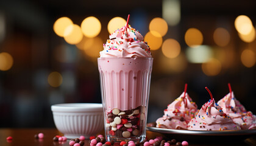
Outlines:
[[[13,58],[7,52],[0,53],[0,71],[8,71],[13,66]]]

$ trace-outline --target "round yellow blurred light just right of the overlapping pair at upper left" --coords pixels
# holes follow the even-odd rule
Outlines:
[[[94,16],[87,17],[82,21],[81,29],[85,36],[94,38],[101,32],[101,22]]]

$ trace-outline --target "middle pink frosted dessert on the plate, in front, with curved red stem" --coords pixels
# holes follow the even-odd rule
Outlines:
[[[241,130],[239,125],[222,111],[215,103],[212,93],[206,87],[211,99],[205,103],[194,119],[188,123],[188,130]]]

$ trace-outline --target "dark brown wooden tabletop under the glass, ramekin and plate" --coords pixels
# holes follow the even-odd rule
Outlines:
[[[35,139],[35,134],[44,133],[43,139]],[[1,146],[11,146],[11,145],[18,145],[18,146],[50,146],[50,145],[63,145],[68,146],[68,141],[66,142],[54,142],[52,141],[53,137],[56,135],[63,135],[55,128],[1,128],[0,129],[0,145]],[[7,141],[6,138],[8,136],[12,136],[12,141]],[[156,136],[166,136],[161,135],[159,133],[154,133],[151,131],[147,131],[147,137],[149,139],[155,138]],[[202,142],[202,139],[205,137],[197,136],[197,137],[181,137],[177,135],[170,135],[166,136],[165,138],[168,139],[179,139],[180,142],[187,141],[189,145],[256,145],[256,137],[255,136],[247,136],[247,137],[229,137],[229,141],[227,142],[226,139],[222,139],[223,141],[216,142],[216,137],[211,137],[206,142]],[[207,139],[207,138],[206,138]],[[221,137],[217,137],[218,140],[221,140]],[[85,141],[85,146],[89,146],[88,140]]]

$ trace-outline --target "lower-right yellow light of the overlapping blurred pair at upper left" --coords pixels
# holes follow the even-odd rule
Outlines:
[[[69,44],[78,44],[83,38],[81,28],[77,24],[66,27],[64,39]]]

